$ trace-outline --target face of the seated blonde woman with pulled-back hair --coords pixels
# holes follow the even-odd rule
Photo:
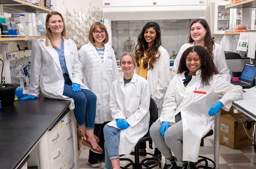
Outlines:
[[[130,55],[122,56],[121,68],[125,76],[132,76],[134,72],[134,62]]]

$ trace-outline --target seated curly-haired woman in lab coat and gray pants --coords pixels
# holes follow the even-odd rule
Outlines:
[[[201,138],[211,130],[214,115],[243,98],[242,87],[219,75],[212,55],[201,46],[183,52],[177,73],[166,91],[161,116],[150,128],[166,158],[164,169],[187,169],[188,161],[198,161]]]

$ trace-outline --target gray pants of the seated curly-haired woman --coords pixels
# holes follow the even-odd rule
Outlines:
[[[175,124],[169,126],[165,131],[164,138],[160,133],[160,120],[157,120],[152,124],[149,132],[155,146],[160,150],[165,158],[171,157],[173,152],[177,161],[182,161],[183,147],[181,141],[183,140],[183,130],[180,113],[175,115],[175,122]]]

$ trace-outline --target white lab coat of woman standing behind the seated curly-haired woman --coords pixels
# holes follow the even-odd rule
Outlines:
[[[180,51],[178,52],[176,59],[174,61],[174,65],[173,65],[173,68],[171,71],[171,79],[173,79],[175,74],[177,74],[177,70],[178,70],[179,63],[180,63],[180,58],[181,58],[181,55],[183,54],[183,52],[187,48],[194,46],[194,45],[195,45],[195,42],[194,43],[185,43],[184,45],[181,46]],[[215,48],[212,51],[212,53],[214,55],[213,62],[215,64],[219,74],[224,79],[226,79],[227,82],[230,82],[230,73],[229,73],[229,69],[227,68],[227,62],[225,59],[224,51],[223,51],[221,45],[219,45],[218,43],[214,43],[214,45],[215,45]]]

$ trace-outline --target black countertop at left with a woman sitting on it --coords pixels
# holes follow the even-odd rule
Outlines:
[[[15,169],[47,130],[68,112],[70,101],[39,96],[0,109],[0,168]]]

